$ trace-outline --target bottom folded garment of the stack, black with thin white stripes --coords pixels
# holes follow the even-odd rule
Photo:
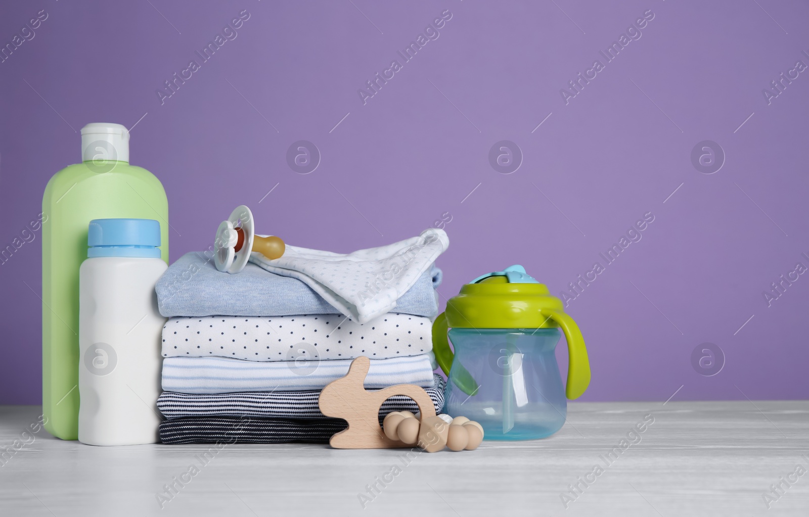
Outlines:
[[[328,443],[348,424],[340,418],[184,417],[160,423],[160,441],[180,443]]]

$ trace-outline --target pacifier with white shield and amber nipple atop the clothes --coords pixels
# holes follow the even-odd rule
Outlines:
[[[250,252],[260,253],[272,261],[281,257],[285,248],[280,237],[256,235],[252,212],[240,205],[219,224],[214,240],[214,262],[219,271],[239,273],[247,265]]]

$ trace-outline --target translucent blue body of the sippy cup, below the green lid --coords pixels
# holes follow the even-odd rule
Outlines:
[[[487,440],[540,439],[557,432],[567,414],[554,355],[560,337],[557,328],[452,328],[455,358],[444,413],[480,423]]]

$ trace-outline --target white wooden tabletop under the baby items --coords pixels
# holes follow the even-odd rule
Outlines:
[[[621,443],[646,414],[654,423]],[[549,439],[409,462],[407,450],[232,444],[201,464],[212,446],[21,436],[39,415],[0,406],[0,447],[27,442],[0,461],[0,515],[809,515],[809,401],[573,403]],[[157,494],[184,475],[161,509]]]

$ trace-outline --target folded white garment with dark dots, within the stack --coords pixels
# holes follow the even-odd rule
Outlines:
[[[176,317],[163,326],[164,358],[319,361],[387,359],[433,350],[430,318],[390,312],[356,323],[341,314]]]

